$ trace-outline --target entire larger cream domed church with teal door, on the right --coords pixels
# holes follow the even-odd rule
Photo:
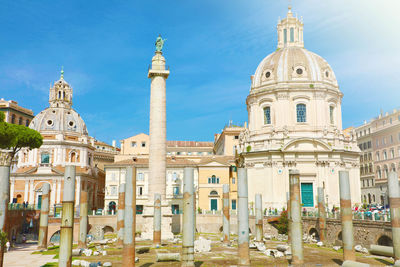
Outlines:
[[[305,208],[317,205],[323,187],[329,208],[340,205],[339,171],[349,172],[353,204],[360,204],[359,148],[342,130],[343,94],[330,65],[304,48],[303,23],[291,9],[277,25],[278,47],[251,77],[248,128],[239,155],[248,168],[249,202],[286,207],[289,170],[300,171]]]

